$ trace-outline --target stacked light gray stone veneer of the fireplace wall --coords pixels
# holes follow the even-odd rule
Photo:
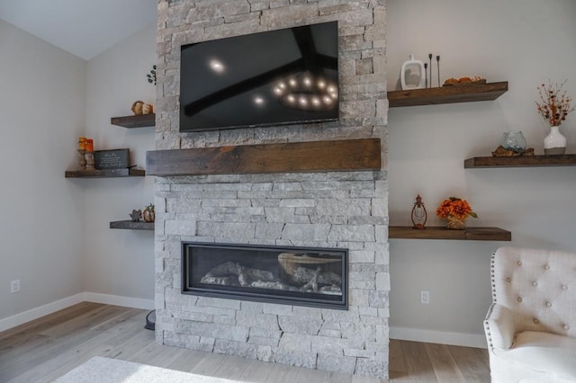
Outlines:
[[[382,138],[385,1],[158,1],[157,149]],[[180,47],[338,20],[340,120],[178,132]],[[386,172],[157,178],[157,341],[261,361],[388,376]],[[181,241],[349,249],[349,307],[182,295]]]

